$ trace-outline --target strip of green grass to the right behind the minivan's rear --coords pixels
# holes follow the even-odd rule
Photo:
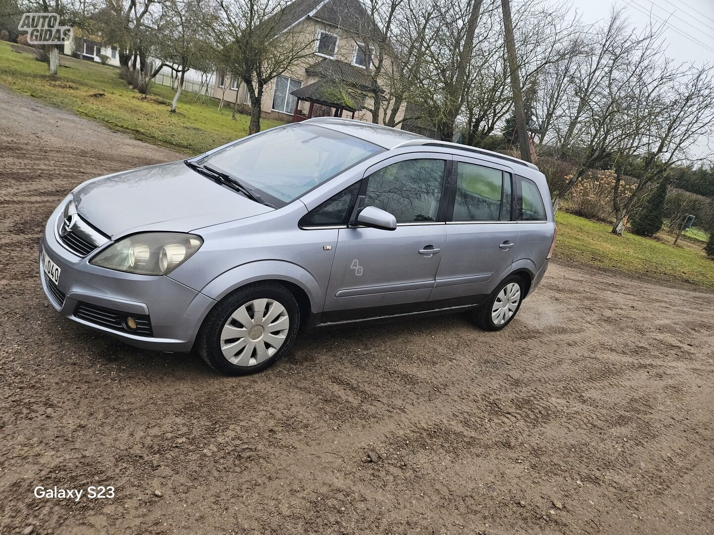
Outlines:
[[[555,258],[714,289],[714,260],[703,252],[630,233],[615,236],[610,233],[610,225],[562,210],[555,215],[555,222],[558,223]]]

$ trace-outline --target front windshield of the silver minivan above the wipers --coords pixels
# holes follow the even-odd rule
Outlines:
[[[273,128],[196,163],[241,180],[278,207],[384,149],[313,125]]]

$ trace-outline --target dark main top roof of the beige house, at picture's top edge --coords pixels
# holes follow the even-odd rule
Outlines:
[[[315,19],[359,36],[381,39],[382,32],[360,0],[295,0],[275,15],[276,34],[303,19]]]

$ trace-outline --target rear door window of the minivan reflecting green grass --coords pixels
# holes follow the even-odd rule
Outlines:
[[[502,195],[501,170],[458,162],[452,220],[498,221]]]

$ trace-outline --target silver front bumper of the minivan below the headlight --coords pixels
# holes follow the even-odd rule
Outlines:
[[[58,215],[59,209],[49,218],[41,245],[42,250],[60,267],[56,288],[51,288],[52,283],[46,280],[41,262],[39,265],[42,289],[51,305],[71,320],[136,347],[156,351],[190,351],[203,318],[216,302],[169,277],[134,275],[91,265],[89,258],[94,254],[80,258],[56,239],[54,225]],[[60,290],[59,294],[56,289]],[[64,302],[59,298],[61,294],[64,294]],[[149,316],[151,336],[132,334],[76,317],[75,311],[80,302],[126,312],[126,315]]]

